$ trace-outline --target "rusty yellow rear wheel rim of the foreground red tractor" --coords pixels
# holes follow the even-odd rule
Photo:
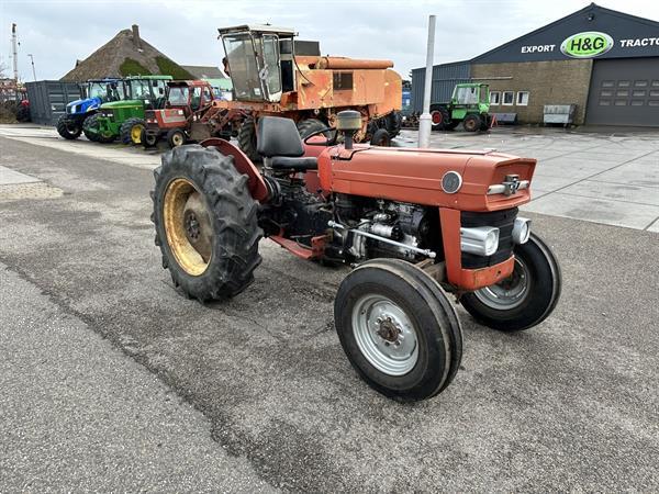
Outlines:
[[[169,182],[163,201],[163,218],[169,250],[177,263],[198,277],[209,267],[212,226],[203,197],[187,179]]]

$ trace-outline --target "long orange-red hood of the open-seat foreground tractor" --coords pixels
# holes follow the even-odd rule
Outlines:
[[[536,160],[484,150],[415,149],[355,145],[319,156],[323,190],[462,211],[496,211],[530,201]],[[443,187],[446,173],[456,189]],[[457,176],[456,176],[457,175]],[[517,186],[504,183],[516,176]],[[512,193],[499,192],[501,190]]]

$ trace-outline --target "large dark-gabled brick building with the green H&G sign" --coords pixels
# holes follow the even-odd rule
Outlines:
[[[425,69],[412,71],[423,106]],[[545,105],[576,105],[574,124],[659,126],[659,22],[591,3],[470,60],[433,67],[432,101],[458,82],[490,85],[491,112],[541,123]]]

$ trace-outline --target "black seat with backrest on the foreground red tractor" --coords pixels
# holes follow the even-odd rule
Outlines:
[[[303,158],[304,146],[295,122],[281,116],[258,121],[256,150],[273,170],[306,171],[319,168],[317,158]]]

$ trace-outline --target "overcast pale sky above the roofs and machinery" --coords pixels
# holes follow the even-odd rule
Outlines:
[[[437,15],[435,64],[457,61],[584,8],[577,0],[0,0],[0,65],[11,74],[11,23],[18,24],[19,75],[59,79],[132,24],[181,65],[220,66],[217,27],[270,23],[300,40],[321,42],[323,55],[387,58],[407,78],[425,65],[428,15]],[[659,21],[658,0],[600,0],[602,7]]]

